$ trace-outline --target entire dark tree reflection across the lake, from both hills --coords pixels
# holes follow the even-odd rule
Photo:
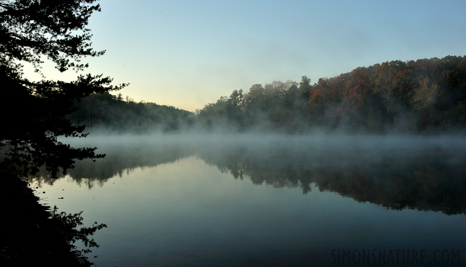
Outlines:
[[[358,202],[386,208],[466,213],[466,155],[461,149],[432,146],[373,149],[338,146],[256,146],[247,144],[171,144],[118,148],[97,162],[76,162],[67,179],[81,186],[103,186],[137,168],[197,155],[234,179],[276,188],[318,187]],[[53,184],[43,176],[41,183]]]

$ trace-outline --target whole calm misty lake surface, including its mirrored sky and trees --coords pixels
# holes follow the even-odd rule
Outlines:
[[[457,137],[95,137],[107,156],[37,178],[84,211],[100,267],[466,265]],[[61,199],[63,197],[63,199]],[[97,256],[97,258],[93,258]]]

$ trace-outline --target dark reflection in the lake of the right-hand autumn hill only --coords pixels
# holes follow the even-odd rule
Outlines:
[[[320,152],[306,156],[288,152],[236,151],[223,156],[206,153],[199,158],[218,166],[221,172],[231,173],[235,179],[247,177],[254,184],[299,186],[303,194],[315,184],[321,191],[336,192],[387,209],[441,211],[448,215],[466,213],[466,167],[451,163],[465,162],[463,155],[450,155],[437,149],[400,158],[387,153],[371,160],[358,159],[357,154],[325,158]]]

